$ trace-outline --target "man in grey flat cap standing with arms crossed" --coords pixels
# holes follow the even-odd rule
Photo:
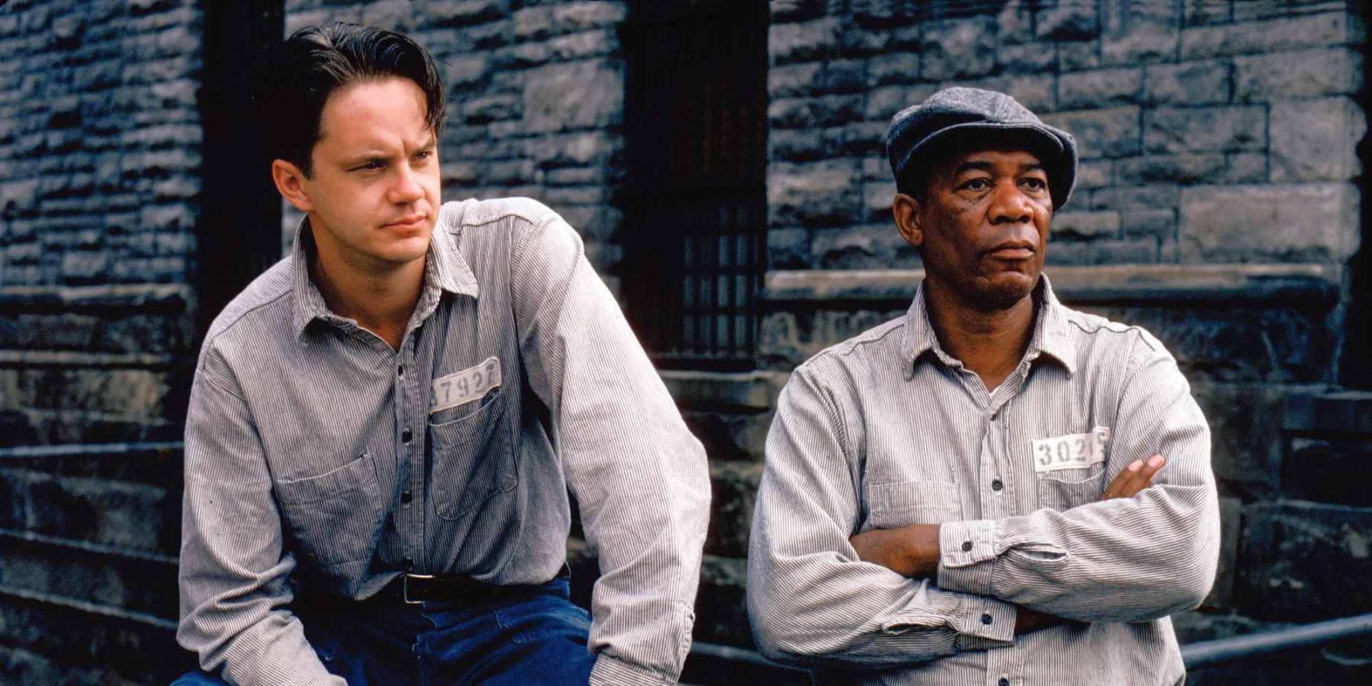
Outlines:
[[[1205,598],[1220,538],[1210,432],[1155,338],[1062,306],[1040,273],[1076,143],[949,88],[886,145],[925,280],[781,394],[759,646],[820,683],[1181,683],[1168,616]]]

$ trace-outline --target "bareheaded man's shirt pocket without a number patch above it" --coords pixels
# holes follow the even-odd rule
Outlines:
[[[370,558],[380,493],[370,453],[318,476],[277,482],[292,552],[321,568]]]

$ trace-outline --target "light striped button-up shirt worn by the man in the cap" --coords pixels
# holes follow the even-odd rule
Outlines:
[[[1169,613],[1214,580],[1210,431],[1170,354],[1063,307],[1047,277],[993,391],[906,317],[801,365],[781,394],[753,517],[759,646],[822,683],[1172,686]],[[1098,502],[1131,461],[1166,466]],[[859,561],[849,536],[941,524],[936,579]],[[1017,606],[1076,620],[1014,635]]]

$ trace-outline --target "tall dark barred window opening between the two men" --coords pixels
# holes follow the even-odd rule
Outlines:
[[[660,366],[753,366],[767,21],[764,1],[630,3],[622,292]]]

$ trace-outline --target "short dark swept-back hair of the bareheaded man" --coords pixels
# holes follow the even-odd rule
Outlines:
[[[410,37],[355,23],[306,26],[281,47],[262,91],[272,152],[311,174],[310,155],[320,141],[320,117],[335,91],[387,77],[414,81],[424,92],[424,122],[443,129],[447,97],[434,60]]]

